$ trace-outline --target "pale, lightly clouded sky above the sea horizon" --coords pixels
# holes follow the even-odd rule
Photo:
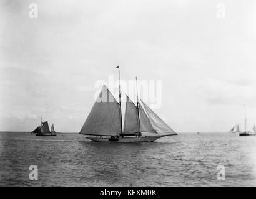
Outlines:
[[[174,131],[229,131],[244,125],[243,104],[250,126],[255,10],[250,0],[2,0],[0,131],[32,131],[42,115],[57,132],[79,132],[117,65],[125,83],[160,82],[160,106],[145,102]]]

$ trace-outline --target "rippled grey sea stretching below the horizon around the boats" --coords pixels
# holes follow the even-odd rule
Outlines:
[[[219,164],[225,180],[216,178]],[[37,165],[38,180],[29,180],[30,165]],[[255,186],[256,136],[179,134],[122,144],[1,132],[0,185]]]

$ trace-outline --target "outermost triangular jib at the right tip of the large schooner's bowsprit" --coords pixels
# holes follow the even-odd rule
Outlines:
[[[142,100],[141,102],[144,105],[145,111],[149,116],[149,121],[155,131],[176,134],[176,132],[172,130],[171,127],[169,127],[164,121],[162,121],[162,119],[160,119],[159,116],[157,116],[157,114],[155,114],[154,111],[147,106],[147,104],[145,104]]]

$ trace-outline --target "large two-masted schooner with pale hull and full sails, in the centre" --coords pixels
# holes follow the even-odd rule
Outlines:
[[[122,127],[120,72],[119,103],[103,85],[79,134],[87,135],[87,139],[96,142],[154,142],[160,137],[177,135],[147,104],[139,102],[138,94],[137,106],[126,95]]]

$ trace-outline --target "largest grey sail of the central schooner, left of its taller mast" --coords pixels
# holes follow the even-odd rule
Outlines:
[[[79,134],[99,136],[121,134],[120,106],[105,85],[102,86],[101,93]]]

